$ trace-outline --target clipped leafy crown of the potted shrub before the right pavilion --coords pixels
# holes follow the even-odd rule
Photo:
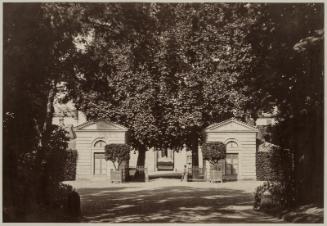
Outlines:
[[[226,158],[226,145],[222,142],[210,142],[202,145],[203,159],[216,165],[220,159]]]

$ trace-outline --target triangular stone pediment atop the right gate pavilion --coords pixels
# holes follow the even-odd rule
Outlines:
[[[214,123],[205,132],[258,132],[258,129],[234,118],[220,123]]]

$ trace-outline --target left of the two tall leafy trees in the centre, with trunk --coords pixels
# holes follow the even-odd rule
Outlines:
[[[70,95],[89,120],[109,118],[127,126],[130,143],[144,162],[146,147],[157,143],[159,132],[153,114],[158,110],[159,76],[151,74],[158,24],[148,5],[84,7],[91,41],[81,52],[79,76],[67,84]]]

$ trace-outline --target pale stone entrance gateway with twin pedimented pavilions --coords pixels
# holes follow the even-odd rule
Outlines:
[[[77,150],[77,178],[109,176],[114,166],[104,159],[104,146],[110,143],[126,143],[127,128],[106,121],[86,122],[74,128]],[[234,118],[215,123],[204,130],[206,142],[223,142],[227,155],[225,175],[227,180],[256,179],[255,156],[256,134],[258,130]],[[202,158],[201,147],[198,151],[199,168],[210,170],[208,161]],[[129,168],[136,168],[137,151],[130,153]],[[185,165],[191,166],[191,152],[154,150],[146,152],[145,167],[149,174],[174,172],[182,174]]]

